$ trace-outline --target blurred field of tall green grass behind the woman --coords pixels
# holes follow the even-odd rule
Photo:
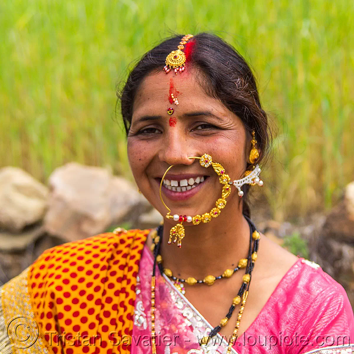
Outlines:
[[[353,179],[353,16],[348,0],[1,1],[0,167],[130,176],[116,82],[170,30],[211,30],[255,69],[279,126],[262,175],[274,217],[328,208]]]

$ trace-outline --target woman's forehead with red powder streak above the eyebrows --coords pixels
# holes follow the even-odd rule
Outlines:
[[[186,68],[182,74],[173,72],[166,74],[162,70],[149,74],[144,78],[137,91],[133,104],[133,118],[136,115],[153,113],[156,109],[171,107],[169,98],[171,92],[178,98],[178,111],[183,112],[191,108],[211,106],[216,109],[227,110],[217,99],[208,96],[202,87],[203,80],[198,72]]]

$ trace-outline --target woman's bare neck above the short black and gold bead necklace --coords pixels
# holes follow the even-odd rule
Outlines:
[[[241,258],[247,258],[250,228],[242,215],[241,203],[240,207],[225,207],[219,217],[207,224],[183,223],[185,237],[181,249],[176,244],[167,244],[174,225],[176,222],[165,220],[160,253],[164,268],[171,269],[177,277],[218,276],[225,269],[236,267]]]

